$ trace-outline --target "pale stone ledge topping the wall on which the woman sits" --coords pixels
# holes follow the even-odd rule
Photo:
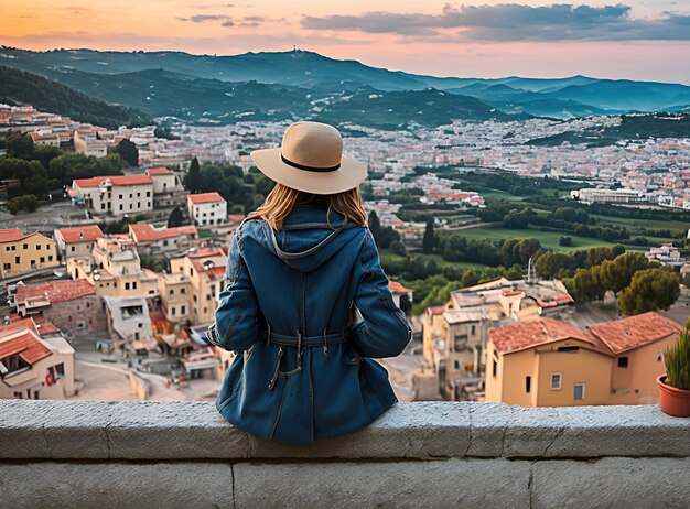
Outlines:
[[[212,402],[0,400],[0,459],[442,459],[690,456],[690,419],[657,405],[396,404],[313,446],[256,438]]]

